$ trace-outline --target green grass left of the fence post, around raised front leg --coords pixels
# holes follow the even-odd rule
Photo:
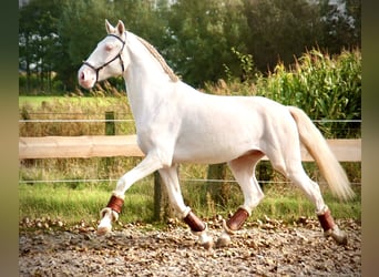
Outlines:
[[[126,195],[123,222],[152,222],[152,183],[136,183]],[[111,197],[115,184],[44,183],[19,185],[19,217],[38,219],[61,218],[68,225],[81,220],[95,222]]]

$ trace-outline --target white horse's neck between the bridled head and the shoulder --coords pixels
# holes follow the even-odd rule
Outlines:
[[[160,62],[135,35],[130,35],[129,40],[131,64],[124,73],[124,79],[133,116],[139,123],[148,120],[152,111],[155,111],[157,105],[162,105],[164,100],[170,99],[173,82],[170,81]]]

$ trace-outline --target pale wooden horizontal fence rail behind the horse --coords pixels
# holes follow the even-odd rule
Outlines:
[[[361,140],[327,140],[340,162],[361,161]],[[19,158],[144,156],[135,135],[19,137]],[[265,156],[263,160],[267,160]],[[301,146],[301,160],[314,161]]]

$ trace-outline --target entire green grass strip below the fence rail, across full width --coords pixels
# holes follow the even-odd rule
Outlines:
[[[68,225],[96,222],[99,212],[106,205],[115,184],[20,184],[19,215],[22,218],[60,218]],[[137,182],[125,194],[122,223],[154,223],[153,179],[147,177]],[[293,185],[267,185],[265,198],[254,211],[249,220],[263,219],[265,216],[291,224],[300,216],[315,217],[315,207],[304,194]],[[324,188],[324,197],[335,218],[360,220],[360,187],[355,186],[357,197],[349,202],[336,199]],[[203,218],[222,215],[227,217],[243,202],[238,188],[226,206],[217,206],[206,197],[204,185],[183,185],[185,202]]]

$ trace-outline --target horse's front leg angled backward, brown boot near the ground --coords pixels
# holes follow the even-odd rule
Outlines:
[[[198,236],[198,243],[204,248],[213,246],[213,239],[207,234],[207,226],[202,222],[188,206],[184,204],[181,186],[178,183],[176,166],[160,170],[163,183],[166,185],[170,204],[181,218],[191,227],[194,235]]]

